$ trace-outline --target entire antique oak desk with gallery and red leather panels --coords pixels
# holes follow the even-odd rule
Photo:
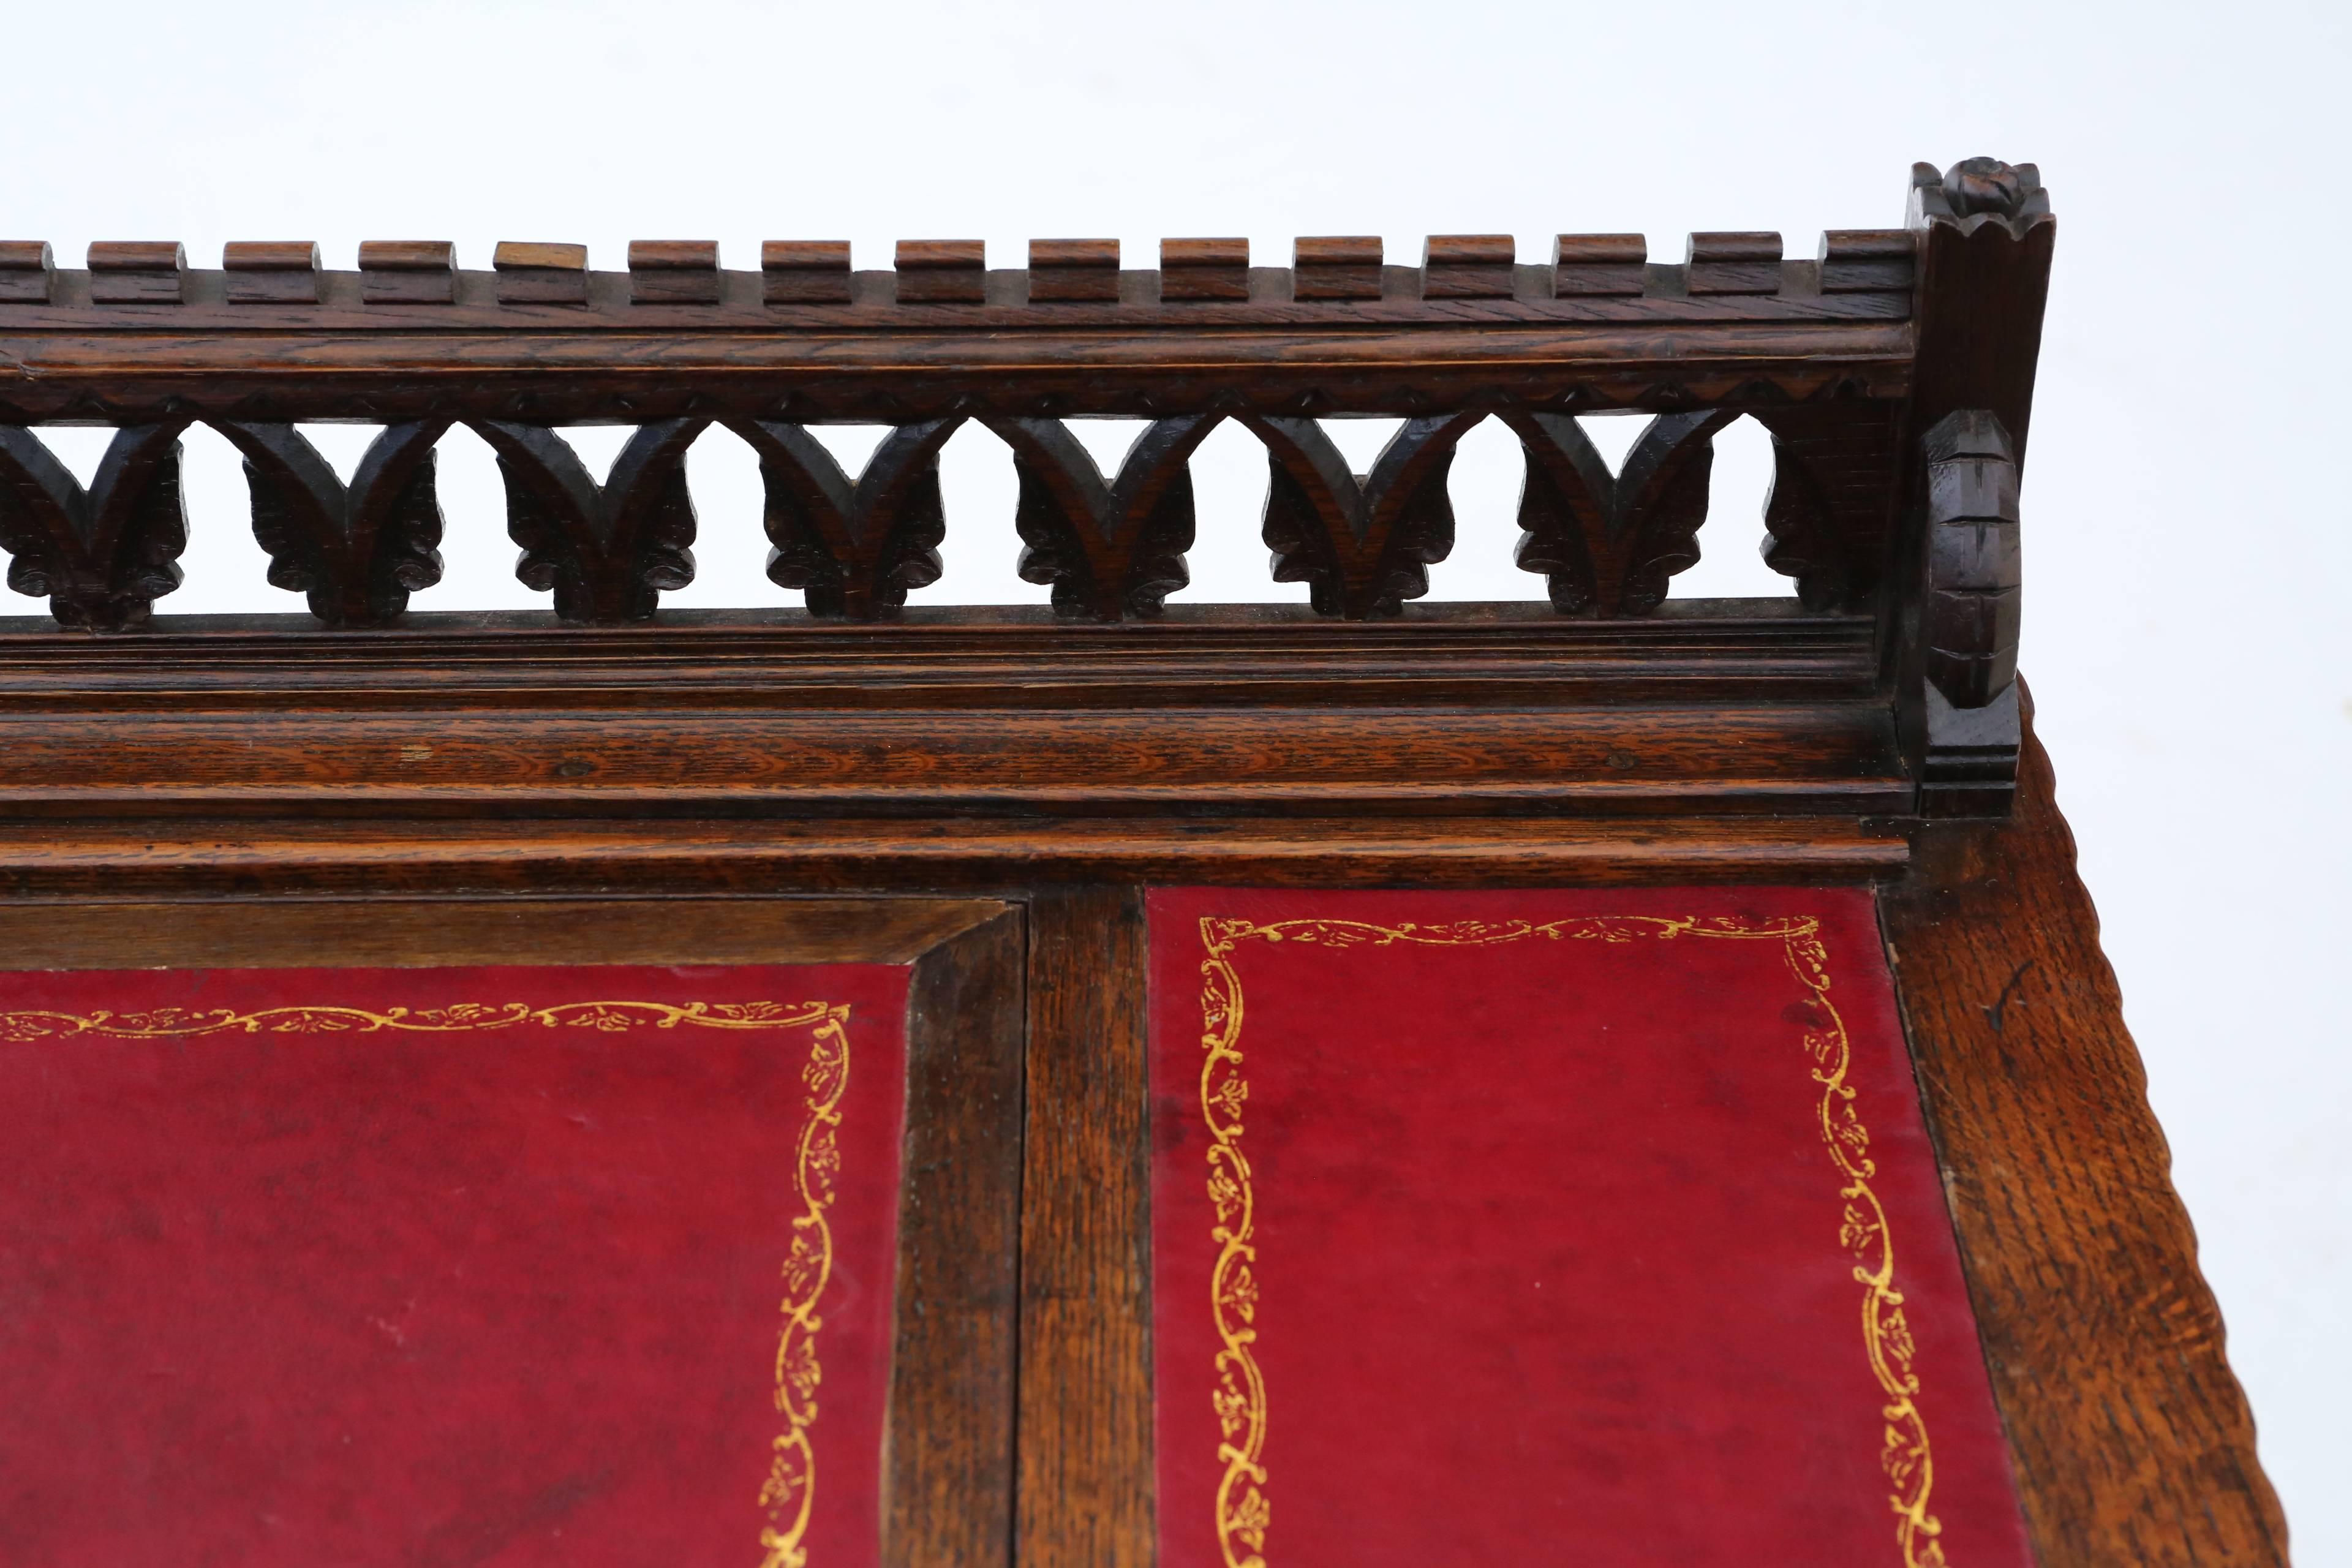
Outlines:
[[[2053,233],[0,244],[0,1556],[2284,1561],[2016,679]],[[1743,416],[1795,597],[1670,599]],[[964,423],[1051,604],[922,604]],[[308,614],[153,614],[193,425]],[[412,607],[456,425],[553,614]],[[713,425],[804,609],[661,609]]]

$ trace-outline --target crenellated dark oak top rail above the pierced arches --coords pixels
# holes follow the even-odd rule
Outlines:
[[[501,244],[499,270],[470,273],[449,266],[447,244],[402,244],[362,247],[362,270],[327,273],[315,247],[233,244],[228,270],[198,273],[179,247],[94,244],[89,270],[49,270],[47,247],[12,244],[0,247],[0,418],[891,423],[957,411],[1411,416],[1463,400],[1686,409],[1907,393],[1903,230],[1830,235],[1828,259],[1790,263],[1705,261],[1717,247],[1778,254],[1778,235],[1693,235],[1698,259],[1682,266],[1588,266],[1573,242],[1562,240],[1571,259],[1552,266],[1449,268],[1432,240],[1439,261],[1390,268],[1378,240],[1348,240],[1324,244],[1359,244],[1374,261],[1141,273],[1120,270],[1117,244],[1101,242],[1091,249],[1110,266],[1094,287],[1077,266],[983,270],[978,244],[901,244],[891,273],[847,270],[847,247],[781,244],[767,247],[771,259],[833,249],[840,268],[734,273],[717,268],[717,247],[635,244],[633,270],[593,273],[583,247]],[[1842,261],[1839,247],[1863,254]],[[240,249],[310,256],[313,270],[235,270]],[[1639,237],[1625,249],[1639,256]],[[367,268],[381,252],[442,261],[430,273]],[[677,252],[708,266],[654,266]],[[969,266],[936,263],[941,252]],[[567,266],[527,266],[548,256]],[[1479,270],[1484,282],[1456,280]],[[1216,277],[1230,289],[1216,292]]]

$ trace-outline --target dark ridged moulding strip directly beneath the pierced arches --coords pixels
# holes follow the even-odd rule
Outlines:
[[[303,616],[158,616],[139,642],[0,616],[0,712],[80,708],[336,710],[452,703],[1061,708],[1282,701],[1578,705],[1813,701],[1875,691],[1867,616],[1755,599],[1672,599],[1644,621],[1543,604],[1414,604],[1334,625],[1305,604],[1171,604],[1152,623],[1061,623],[1047,607],[910,607],[889,623],[800,611],[663,611],[557,625],[529,611],[409,614],[322,632]],[[677,693],[689,691],[691,698]],[[854,693],[854,698],[844,696]]]

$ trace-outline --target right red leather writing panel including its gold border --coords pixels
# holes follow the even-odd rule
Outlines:
[[[1870,896],[1157,891],[1162,1568],[2023,1568]]]

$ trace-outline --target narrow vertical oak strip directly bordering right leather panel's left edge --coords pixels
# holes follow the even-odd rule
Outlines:
[[[1152,1561],[1143,893],[1030,903],[1021,1568]]]

